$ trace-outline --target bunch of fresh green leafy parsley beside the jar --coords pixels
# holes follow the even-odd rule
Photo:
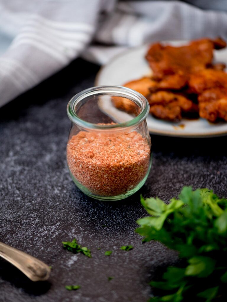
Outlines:
[[[178,251],[183,260],[150,283],[164,296],[149,301],[227,301],[227,199],[185,187],[169,204],[143,197],[141,203],[152,216],[137,221],[137,233]]]

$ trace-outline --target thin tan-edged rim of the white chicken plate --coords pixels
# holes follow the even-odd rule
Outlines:
[[[180,42],[180,43],[187,43],[189,40],[163,40],[161,43],[175,43],[175,42]],[[152,43],[152,42],[151,42]],[[113,56],[106,64],[100,67],[99,71],[97,72],[95,79],[94,79],[94,86],[101,86],[98,84],[98,81],[100,79],[100,75],[103,72],[107,66],[112,64],[116,59],[124,56],[125,54],[129,52],[133,52],[139,49],[143,49],[145,47],[148,47],[151,43],[146,43],[140,46],[136,47],[130,47],[129,49],[123,50],[122,52],[116,54]],[[227,49],[226,49],[227,51]],[[199,117],[201,119],[201,117]],[[149,129],[148,129],[149,130]],[[179,130],[180,131],[180,130]],[[161,136],[168,136],[168,137],[184,137],[184,138],[208,138],[208,137],[219,137],[219,136],[225,136],[227,135],[227,130],[225,131],[217,131],[217,132],[206,132],[206,133],[180,133],[180,132],[174,132],[171,130],[156,130],[156,129],[151,129],[149,130],[150,134],[154,135],[161,135]]]

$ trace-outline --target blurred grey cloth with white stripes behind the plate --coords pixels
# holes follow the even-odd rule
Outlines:
[[[225,0],[0,0],[0,107],[78,56],[105,64],[152,41],[227,39],[226,9]]]

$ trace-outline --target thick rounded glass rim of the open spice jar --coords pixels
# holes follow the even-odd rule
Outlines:
[[[135,101],[138,105],[140,104],[141,107],[141,112],[140,114],[137,115],[137,117],[132,118],[131,120],[119,124],[108,124],[108,125],[99,125],[99,124],[93,124],[90,122],[87,122],[83,119],[81,119],[74,110],[74,107],[76,104],[78,104],[80,101],[82,101],[85,97],[91,96],[91,95],[96,95],[96,94],[108,94],[108,93],[118,93],[121,94],[120,96],[124,98],[133,98],[132,101]],[[119,95],[118,95],[119,96]],[[140,94],[139,92],[123,87],[123,86],[117,86],[117,85],[103,85],[103,86],[94,86],[91,88],[87,88],[71,98],[71,100],[68,102],[67,105],[67,115],[71,122],[76,124],[77,126],[81,126],[87,129],[97,129],[97,130],[110,130],[110,129],[119,129],[123,127],[130,127],[134,126],[136,124],[140,124],[145,118],[147,117],[149,113],[149,103],[147,99]]]

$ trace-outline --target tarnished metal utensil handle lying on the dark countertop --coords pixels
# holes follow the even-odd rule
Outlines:
[[[0,256],[22,271],[31,281],[44,281],[49,278],[51,269],[48,265],[2,242]]]

